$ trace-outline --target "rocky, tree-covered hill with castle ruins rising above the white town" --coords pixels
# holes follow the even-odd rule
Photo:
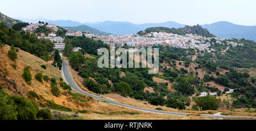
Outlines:
[[[174,33],[179,35],[185,35],[187,33],[192,34],[199,34],[205,37],[214,37],[213,34],[209,33],[209,31],[205,28],[202,28],[200,25],[188,26],[185,25],[184,28],[167,28],[167,27],[151,27],[147,28],[144,31],[139,31],[137,34],[144,35],[150,32],[167,32],[167,33]]]

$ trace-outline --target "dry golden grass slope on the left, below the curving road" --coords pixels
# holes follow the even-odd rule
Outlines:
[[[27,98],[28,91],[34,91],[40,96],[40,98],[35,98],[38,103],[46,104],[51,101],[61,106],[60,108],[69,108],[70,111],[68,112],[57,111],[59,114],[64,113],[64,116],[74,116],[75,112],[82,111],[77,114],[80,116],[79,119],[211,119],[209,117],[201,116],[159,115],[131,110],[124,107],[114,106],[113,104],[106,102],[97,101],[97,99],[90,98],[75,91],[63,90],[59,85],[58,87],[61,91],[61,95],[55,97],[51,93],[50,82],[39,82],[35,80],[35,74],[41,72],[49,78],[55,77],[57,82],[59,82],[61,72],[43,59],[20,49],[18,51],[18,59],[13,61],[9,58],[9,50],[10,46],[8,45],[0,47],[0,83],[3,88],[8,90],[10,95],[20,95],[25,98]],[[40,66],[42,64],[47,65],[47,68],[42,68]],[[16,65],[16,69],[13,65]],[[22,77],[23,69],[26,66],[30,66],[32,75],[30,85],[27,84]],[[55,114],[56,110],[59,109],[55,108],[52,110],[52,113]]]

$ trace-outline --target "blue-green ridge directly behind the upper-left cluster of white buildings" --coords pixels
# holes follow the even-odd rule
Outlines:
[[[111,33],[101,32],[100,30],[92,27],[88,27],[87,25],[80,25],[78,27],[63,27],[63,28],[68,28],[68,30],[76,30],[81,32],[86,31],[89,33],[97,34],[97,35],[109,36],[111,34]]]

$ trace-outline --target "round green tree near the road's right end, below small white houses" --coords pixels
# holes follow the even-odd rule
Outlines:
[[[220,107],[218,99],[211,95],[196,98],[195,102],[202,110],[217,110],[217,108]]]

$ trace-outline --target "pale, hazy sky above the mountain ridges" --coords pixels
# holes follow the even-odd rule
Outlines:
[[[229,21],[256,25],[255,0],[8,0],[0,12],[11,18],[46,18],[80,23],[129,21],[134,24],[175,21],[180,24],[210,24]]]

